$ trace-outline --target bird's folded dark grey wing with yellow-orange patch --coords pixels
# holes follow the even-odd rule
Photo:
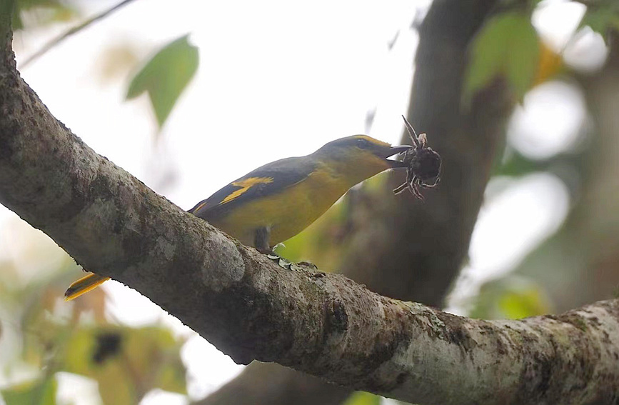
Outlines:
[[[247,201],[276,194],[306,179],[315,167],[315,162],[308,156],[273,161],[232,181],[208,199],[200,201],[188,212],[206,221],[220,218]]]

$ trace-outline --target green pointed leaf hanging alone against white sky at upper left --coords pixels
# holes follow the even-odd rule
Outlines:
[[[134,99],[146,91],[160,127],[198,69],[198,48],[189,44],[187,37],[164,46],[129,84],[126,98]]]

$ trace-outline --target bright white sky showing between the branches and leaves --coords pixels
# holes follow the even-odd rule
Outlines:
[[[84,0],[83,4],[88,14],[94,14],[116,1]],[[326,141],[363,133],[366,113],[376,107],[370,134],[396,143],[402,133],[400,115],[406,113],[417,44],[416,34],[408,27],[416,12],[423,13],[427,6],[425,0],[135,1],[57,46],[21,74],[51,112],[86,144],[189,209],[261,164],[308,154]],[[570,21],[578,22],[579,12],[578,6],[553,7],[546,13],[553,18],[538,14],[536,19],[542,22],[536,24],[551,26],[547,31],[560,47],[565,35],[558,33],[566,26],[569,29]],[[55,25],[16,36],[18,64],[67,27]],[[398,31],[389,51],[388,42]],[[188,32],[199,47],[199,71],[154,144],[156,124],[146,95],[124,101],[128,76],[104,81],[101,65],[111,46],[129,44],[144,58]],[[580,94],[562,84],[547,86],[550,89],[541,89],[541,94],[531,93],[515,114],[511,140],[523,154],[531,142],[533,154],[542,151],[541,156],[548,156],[578,141],[577,130],[584,120]],[[556,114],[540,114],[548,104],[556,106]],[[571,124],[557,125],[565,116],[573,119]],[[543,133],[526,131],[540,126]],[[428,138],[431,142],[432,134]],[[475,286],[497,271],[513,268],[554,231],[567,213],[567,201],[565,186],[548,174],[512,181],[489,197],[473,234],[466,269],[468,281],[474,281],[463,296],[473,294]],[[531,221],[532,215],[538,221]],[[529,220],[519,220],[523,216]],[[532,223],[538,223],[538,229],[531,229]],[[14,238],[16,232],[38,231],[0,207],[0,258],[16,258],[15,252],[24,249],[28,238]],[[183,336],[192,333],[136,291],[116,282],[104,288],[117,319],[129,324],[161,320]],[[197,336],[183,348],[183,359],[194,398],[241,370]],[[61,394],[75,401],[69,389],[74,379],[69,379],[61,381]],[[143,404],[184,401],[181,396],[154,394]],[[93,402],[82,396],[76,403]]]

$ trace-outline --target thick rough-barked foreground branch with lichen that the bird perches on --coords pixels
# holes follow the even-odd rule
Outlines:
[[[0,202],[236,361],[421,404],[619,400],[618,301],[480,321],[283,269],[86,146],[19,77],[10,32],[0,41]]]

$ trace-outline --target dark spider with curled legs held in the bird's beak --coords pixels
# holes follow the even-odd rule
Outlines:
[[[426,134],[415,132],[413,126],[402,116],[406,124],[408,136],[411,136],[413,147],[404,154],[403,162],[408,165],[406,168],[406,181],[393,190],[393,194],[400,194],[405,189],[411,191],[413,196],[423,201],[421,189],[432,189],[441,180],[441,155],[426,146],[428,142]],[[433,183],[428,180],[434,179]]]

